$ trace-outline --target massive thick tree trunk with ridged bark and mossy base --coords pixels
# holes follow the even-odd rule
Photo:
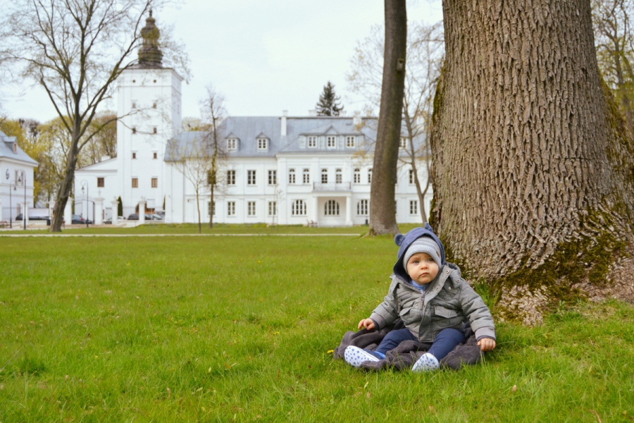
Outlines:
[[[443,0],[431,223],[449,259],[532,324],[580,288],[634,299],[633,148],[590,0]],[[608,280],[609,283],[605,283]]]

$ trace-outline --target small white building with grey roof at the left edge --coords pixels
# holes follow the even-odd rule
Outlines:
[[[33,176],[37,161],[18,147],[15,137],[0,131],[0,221],[13,221],[15,216],[33,207]],[[28,221],[28,212],[26,213]],[[20,221],[20,224],[22,222]]]

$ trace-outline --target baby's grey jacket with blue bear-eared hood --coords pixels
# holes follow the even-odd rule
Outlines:
[[[411,284],[403,264],[407,248],[421,236],[428,236],[437,243],[442,261],[438,276],[422,293]],[[461,277],[458,266],[445,262],[445,247],[428,223],[405,235],[397,235],[394,242],[400,248],[394,264],[394,274],[391,276],[390,290],[370,316],[378,326],[376,329],[383,329],[400,317],[418,341],[433,342],[442,329],[462,329],[464,323],[469,321],[478,340],[495,339],[491,312],[480,295]]]

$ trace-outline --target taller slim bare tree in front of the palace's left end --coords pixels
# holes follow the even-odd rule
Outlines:
[[[226,145],[223,143],[224,137],[220,135],[220,123],[225,118],[225,99],[213,89],[212,85],[206,87],[207,96],[201,102],[202,121],[206,125],[204,140],[211,150],[209,166],[207,167],[209,185],[209,228],[213,228],[213,204],[215,204],[216,190],[223,185],[224,173],[221,171],[227,158]],[[200,217],[200,216],[199,216]]]

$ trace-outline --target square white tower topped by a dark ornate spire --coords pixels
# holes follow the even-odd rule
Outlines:
[[[118,78],[117,178],[123,215],[163,210],[166,195],[163,156],[168,140],[181,131],[182,78],[163,68],[159,29],[150,11],[141,30],[139,62]]]

